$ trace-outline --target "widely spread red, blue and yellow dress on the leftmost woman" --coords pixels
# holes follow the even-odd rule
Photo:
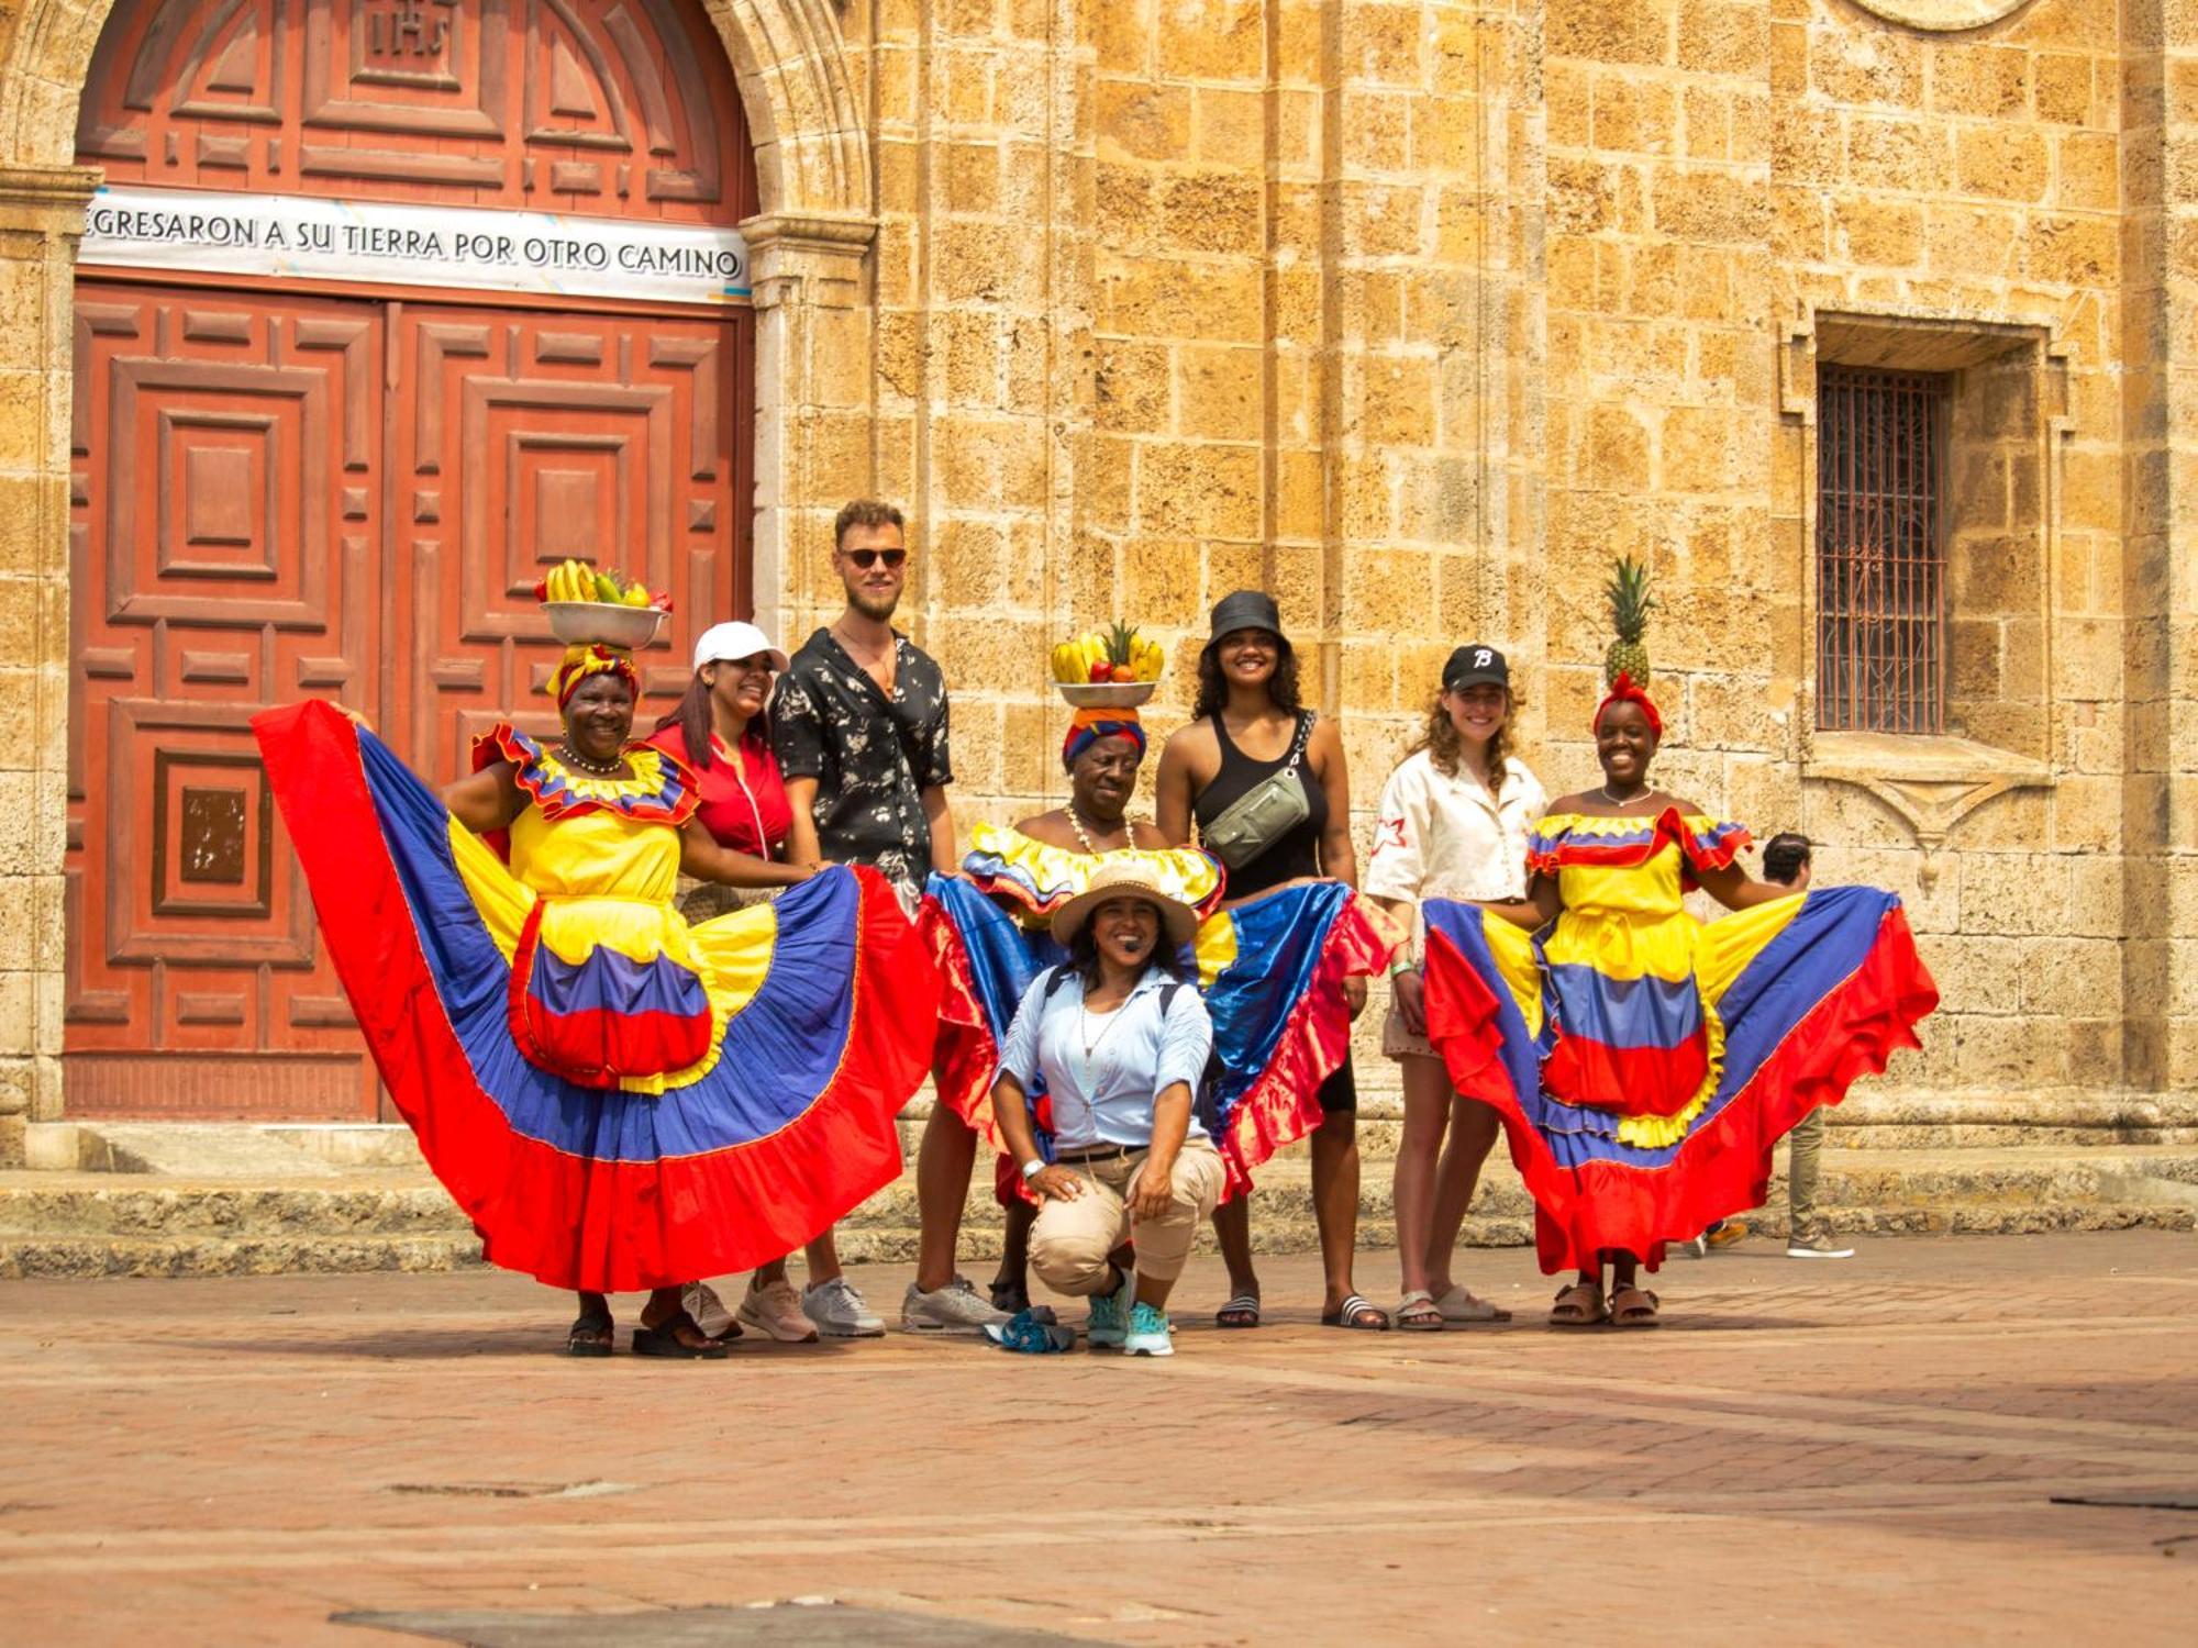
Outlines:
[[[936,976],[870,870],[688,925],[692,773],[596,778],[512,727],[506,857],[323,703],[253,721],[391,1099],[492,1263],[629,1292],[747,1270],[901,1171]]]

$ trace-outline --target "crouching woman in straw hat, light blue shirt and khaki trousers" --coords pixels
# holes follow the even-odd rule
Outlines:
[[[991,1110],[1037,1195],[1031,1268],[1090,1299],[1092,1349],[1174,1354],[1167,1294],[1226,1182],[1196,1114],[1213,1024],[1176,971],[1196,932],[1139,866],[1099,870],[1053,916],[1068,960],[1031,982],[1000,1048]]]

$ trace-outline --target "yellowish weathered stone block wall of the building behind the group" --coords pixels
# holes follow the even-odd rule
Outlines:
[[[1600,584],[1631,552],[1666,782],[1908,899],[1945,1015],[1895,1081],[2042,1112],[2198,1088],[2198,11],[690,9],[754,141],[752,606],[800,635],[833,604],[833,510],[908,503],[963,820],[1062,791],[1051,639],[1163,635],[1165,734],[1242,584],[1317,661],[1361,824],[1466,637],[1512,655],[1545,782],[1587,782]],[[70,316],[108,15],[0,0],[15,1132],[70,1105]],[[1892,613],[1930,628],[1901,730],[1827,690],[1877,644],[1831,606],[1897,560],[1840,536],[1829,455],[1899,437],[1895,402],[1827,409],[1886,382],[1928,448],[1899,554],[1936,569]]]

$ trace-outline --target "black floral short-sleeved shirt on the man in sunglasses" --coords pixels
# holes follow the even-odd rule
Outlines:
[[[892,637],[892,699],[820,628],[771,699],[771,747],[785,778],[815,778],[818,846],[833,864],[868,864],[914,903],[932,868],[923,791],[952,784],[947,681],[906,635]]]

